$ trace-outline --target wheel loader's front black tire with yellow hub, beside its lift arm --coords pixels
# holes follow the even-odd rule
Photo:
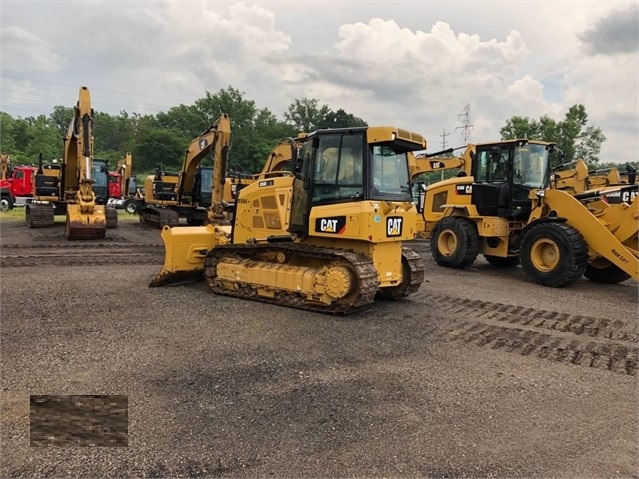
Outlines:
[[[533,282],[551,288],[578,281],[588,266],[583,236],[566,223],[543,222],[530,227],[521,240],[521,265]]]

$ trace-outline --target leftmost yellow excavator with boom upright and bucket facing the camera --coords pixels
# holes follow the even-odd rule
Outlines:
[[[52,226],[55,214],[66,214],[65,238],[103,239],[106,206],[97,204],[93,191],[93,108],[87,87],[80,88],[73,112],[64,137],[62,164],[43,167],[40,160],[26,221],[32,228]]]

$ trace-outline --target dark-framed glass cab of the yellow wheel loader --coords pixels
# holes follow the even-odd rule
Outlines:
[[[554,144],[513,140],[478,144],[472,161],[472,203],[481,216],[525,221],[530,191],[548,187]]]

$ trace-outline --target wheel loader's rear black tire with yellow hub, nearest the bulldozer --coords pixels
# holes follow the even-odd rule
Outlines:
[[[430,239],[433,259],[446,268],[468,268],[477,259],[480,247],[477,226],[457,216],[439,220]]]

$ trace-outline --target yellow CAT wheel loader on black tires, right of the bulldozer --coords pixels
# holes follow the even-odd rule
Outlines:
[[[423,192],[422,235],[435,261],[466,268],[482,253],[495,266],[521,263],[544,286],[582,276],[639,279],[637,185],[574,194],[551,187],[554,143],[507,140],[469,145],[471,176]],[[608,201],[618,195],[625,201]]]

